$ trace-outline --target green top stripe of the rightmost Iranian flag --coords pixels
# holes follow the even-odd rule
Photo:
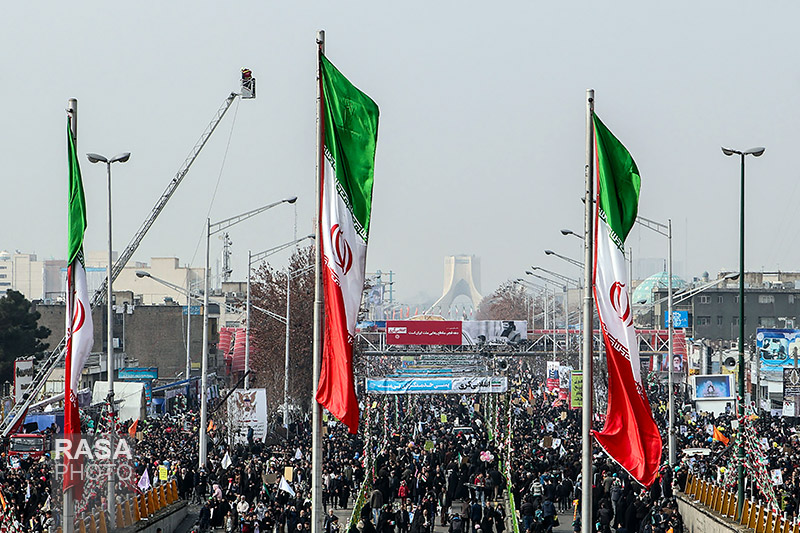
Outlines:
[[[598,116],[593,118],[601,216],[614,233],[617,246],[622,246],[639,210],[639,169],[630,152]]]

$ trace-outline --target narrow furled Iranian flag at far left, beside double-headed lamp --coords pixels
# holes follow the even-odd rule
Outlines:
[[[86,199],[83,194],[81,169],[75,138],[72,136],[70,120],[67,119],[67,166],[69,167],[69,205],[67,229],[69,231],[67,255],[67,353],[64,382],[64,435],[72,439],[72,450],[76,450],[81,433],[81,419],[76,396],[81,372],[94,342],[91,304],[86,285],[86,269],[83,262],[83,234],[86,231]],[[74,487],[75,499],[81,499],[83,480],[80,475],[80,457],[65,459],[64,490]]]

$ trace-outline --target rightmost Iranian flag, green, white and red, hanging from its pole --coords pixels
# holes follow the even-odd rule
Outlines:
[[[636,222],[641,179],[631,154],[593,116],[597,168],[594,296],[608,362],[608,410],[600,446],[642,485],[658,475],[661,435],[642,381],[625,238]]]

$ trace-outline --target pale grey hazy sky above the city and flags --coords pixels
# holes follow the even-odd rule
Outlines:
[[[201,266],[209,209],[220,220],[291,195],[309,233],[322,28],[328,57],[380,106],[368,270],[396,272],[400,298],[438,297],[456,253],[480,256],[485,294],[531,264],[578,275],[542,250],[580,253],[559,229],[582,228],[589,87],[642,173],[640,214],[673,219],[678,274],[737,268],[739,162],[722,144],[767,147],[748,159],[747,268],[797,270],[799,18],[793,2],[10,2],[0,249],[66,254],[68,98],[81,153],[133,154],[113,169],[122,250],[242,67],[258,98],[234,104],[135,259]],[[105,169],[82,170],[86,249],[100,250]],[[232,228],[234,277],[293,226],[281,206]],[[629,242],[665,255],[647,230]]]

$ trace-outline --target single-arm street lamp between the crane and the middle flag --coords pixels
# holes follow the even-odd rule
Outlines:
[[[283,200],[279,200],[277,202],[273,202],[271,204],[267,204],[265,206],[259,207],[257,209],[253,209],[252,211],[247,211],[246,213],[242,213],[241,215],[237,215],[235,217],[226,218],[225,220],[221,220],[220,222],[215,222],[214,224],[211,223],[211,219],[206,219],[206,262],[205,262],[205,272],[204,274],[204,290],[203,290],[203,359],[200,362],[201,364],[201,374],[200,374],[200,428],[199,428],[199,450],[198,450],[198,463],[200,468],[204,468],[206,466],[206,461],[208,459],[208,443],[206,442],[206,433],[208,432],[208,388],[206,386],[206,381],[208,379],[208,291],[209,291],[209,275],[211,272],[210,257],[209,257],[209,248],[211,245],[211,236],[215,233],[219,233],[220,231],[224,231],[231,226],[238,224],[239,222],[243,222],[248,218],[254,217],[259,213],[263,213],[267,209],[272,209],[273,207],[280,205],[280,204],[293,204],[297,201],[297,196],[293,196],[291,198],[285,198]]]

